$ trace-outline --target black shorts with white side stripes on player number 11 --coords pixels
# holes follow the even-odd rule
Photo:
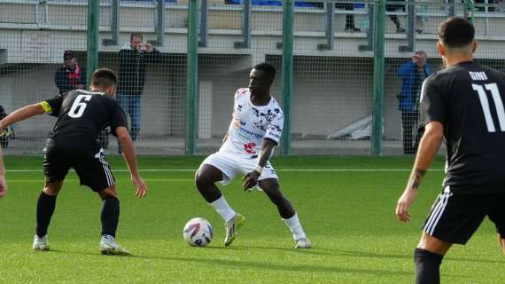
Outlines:
[[[465,244],[487,216],[505,237],[505,193],[452,193],[446,186],[435,200],[423,231],[440,241]]]

